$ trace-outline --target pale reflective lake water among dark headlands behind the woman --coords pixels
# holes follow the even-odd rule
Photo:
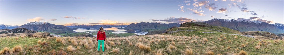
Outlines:
[[[116,34],[127,33],[127,32],[125,32],[126,31],[125,29],[118,29],[118,28],[120,28],[120,27],[104,28],[104,30],[114,30],[114,32],[112,32],[112,33],[116,33]],[[78,29],[76,29],[74,31],[75,32],[97,31],[97,29],[91,28],[91,29],[87,30],[85,28],[78,28]],[[86,32],[86,33],[89,33],[89,32]],[[134,32],[131,32],[131,33],[134,33],[136,35],[145,35],[148,32],[141,32],[140,30],[135,30]],[[97,35],[94,35],[94,36],[97,36]]]

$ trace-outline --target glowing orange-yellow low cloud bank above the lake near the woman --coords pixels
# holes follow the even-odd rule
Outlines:
[[[101,20],[99,23],[90,23],[92,25],[129,25],[129,23],[120,23],[112,20]]]

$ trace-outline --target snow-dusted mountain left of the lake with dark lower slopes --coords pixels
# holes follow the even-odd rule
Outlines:
[[[75,33],[75,31],[73,31],[73,29],[69,27],[50,24],[49,22],[30,22],[20,27],[27,28],[29,30],[35,30],[35,31],[47,31],[47,32],[56,33],[56,34],[57,33]]]

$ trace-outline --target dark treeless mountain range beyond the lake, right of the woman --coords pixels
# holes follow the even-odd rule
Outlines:
[[[177,23],[172,23],[172,24],[160,24],[160,23],[145,23],[145,22],[140,22],[137,24],[130,24],[125,28],[118,28],[118,29],[167,29],[173,26],[179,27],[181,24]]]

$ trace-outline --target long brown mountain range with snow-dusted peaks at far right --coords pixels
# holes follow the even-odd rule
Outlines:
[[[234,30],[243,31],[266,31],[275,34],[284,33],[283,30],[278,27],[261,21],[237,21],[234,19],[224,20],[214,18],[212,20],[205,21],[205,23],[212,26],[223,26]]]

